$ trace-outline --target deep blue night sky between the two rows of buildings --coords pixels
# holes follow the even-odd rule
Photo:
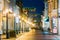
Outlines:
[[[35,13],[42,13],[44,10],[44,0],[22,0],[23,7],[36,8]]]

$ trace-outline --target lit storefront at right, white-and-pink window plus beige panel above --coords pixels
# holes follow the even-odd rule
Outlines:
[[[51,13],[51,20],[52,20],[52,33],[57,34],[58,33],[58,18],[57,18],[57,9],[52,10]]]

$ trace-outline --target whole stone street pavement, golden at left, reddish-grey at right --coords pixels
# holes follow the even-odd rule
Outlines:
[[[2,40],[60,40],[60,36],[44,35],[39,30],[31,30],[30,32],[25,32],[22,35],[17,35],[16,38],[6,39],[6,36],[2,35]]]

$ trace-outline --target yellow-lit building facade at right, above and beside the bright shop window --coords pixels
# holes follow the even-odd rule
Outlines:
[[[52,18],[57,18],[58,0],[48,0],[48,16],[50,22],[50,29],[52,32]],[[56,20],[57,21],[57,20]]]

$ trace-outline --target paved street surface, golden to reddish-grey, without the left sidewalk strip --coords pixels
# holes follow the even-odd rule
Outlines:
[[[42,35],[40,31],[30,31],[18,37],[16,40],[60,40],[57,35]]]

